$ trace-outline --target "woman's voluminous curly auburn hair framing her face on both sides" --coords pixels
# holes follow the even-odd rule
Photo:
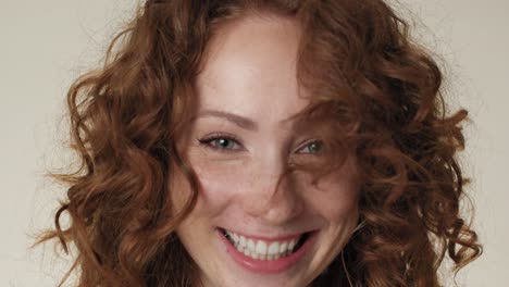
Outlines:
[[[104,66],[67,95],[82,165],[54,175],[69,190],[54,230],[40,240],[77,249],[77,286],[193,285],[196,266],[174,232],[194,208],[197,178],[175,140],[196,103],[207,43],[224,23],[253,14],[299,21],[309,113],[334,117],[331,137],[353,147],[361,172],[362,227],[313,286],[439,286],[446,257],[456,270],[477,258],[477,236],[460,214],[467,111],[446,113],[437,64],[386,3],[149,0],[113,40]],[[179,211],[172,169],[194,190]]]

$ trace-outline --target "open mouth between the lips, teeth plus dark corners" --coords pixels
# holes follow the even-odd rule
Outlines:
[[[311,233],[305,233],[300,236],[284,240],[263,240],[254,239],[244,235],[238,235],[220,228],[223,236],[229,244],[237,249],[238,252],[254,260],[277,260],[288,257],[299,250],[300,247],[308,240]]]

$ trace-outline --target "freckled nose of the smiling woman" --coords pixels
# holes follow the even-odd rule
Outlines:
[[[256,164],[244,194],[244,210],[264,224],[281,226],[299,216],[303,200],[296,174],[286,172],[284,160]]]

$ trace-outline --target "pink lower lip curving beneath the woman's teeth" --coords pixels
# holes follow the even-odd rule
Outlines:
[[[294,266],[305,255],[306,251],[311,247],[315,239],[316,232],[312,232],[306,242],[296,252],[280,258],[276,260],[256,260],[246,257],[235,248],[232,242],[223,235],[223,232],[218,229],[221,240],[226,246],[226,252],[237,262],[240,266],[254,272],[254,273],[278,273],[286,271]]]

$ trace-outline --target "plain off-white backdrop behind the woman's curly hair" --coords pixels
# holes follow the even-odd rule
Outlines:
[[[55,286],[63,275],[65,258],[28,247],[51,226],[63,195],[45,173],[69,159],[65,92],[100,63],[135,5],[0,0],[0,286]],[[470,112],[462,162],[484,254],[460,272],[458,285],[509,286],[509,1],[401,0],[398,7],[446,67],[448,101]]]

